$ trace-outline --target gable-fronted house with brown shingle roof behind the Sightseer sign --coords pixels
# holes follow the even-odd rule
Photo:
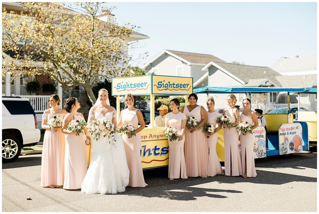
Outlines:
[[[225,62],[210,54],[163,50],[141,68],[157,75],[193,77],[195,82],[205,74],[202,68],[211,61]]]

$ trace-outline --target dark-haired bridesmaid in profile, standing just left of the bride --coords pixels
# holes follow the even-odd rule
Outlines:
[[[83,114],[77,112],[80,107],[78,99],[74,97],[70,97],[65,101],[64,109],[68,114],[64,117],[62,124],[62,132],[67,134],[64,159],[64,189],[80,189],[87,171],[85,149],[87,128],[85,127],[84,134],[82,132],[79,136],[76,135],[76,132],[66,129],[71,120],[84,120]]]

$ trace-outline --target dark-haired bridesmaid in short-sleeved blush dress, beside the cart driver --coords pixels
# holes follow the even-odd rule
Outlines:
[[[172,112],[166,114],[165,128],[170,126],[177,129],[179,140],[177,143],[168,141],[169,158],[168,158],[168,178],[174,180],[175,178],[187,178],[186,165],[184,156],[184,142],[185,142],[185,125],[186,115],[178,110],[180,101],[173,99],[170,101],[170,108]]]

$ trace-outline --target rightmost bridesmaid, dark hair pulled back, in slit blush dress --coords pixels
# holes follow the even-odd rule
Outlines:
[[[254,111],[250,110],[250,100],[248,98],[242,101],[244,111],[240,114],[241,122],[249,122],[253,125],[252,129],[258,127],[257,115]],[[255,159],[253,153],[255,136],[254,134],[246,133],[243,135],[240,134],[240,144],[241,144],[241,167],[243,169],[244,178],[247,177],[256,177],[255,169]]]

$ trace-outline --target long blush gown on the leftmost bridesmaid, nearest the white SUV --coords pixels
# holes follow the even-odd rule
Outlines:
[[[59,114],[43,114],[42,120],[49,121],[51,116]],[[60,114],[63,120],[65,114]],[[41,186],[62,186],[64,181],[64,147],[65,136],[61,129],[47,129],[44,133],[41,158]]]

